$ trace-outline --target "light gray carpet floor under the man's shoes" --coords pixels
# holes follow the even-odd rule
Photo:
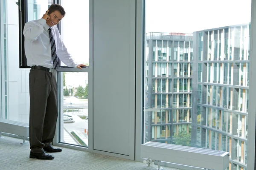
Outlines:
[[[8,136],[0,139],[0,170],[156,170],[142,162],[62,148],[53,160],[29,158],[29,143]],[[178,170],[163,167],[164,170]]]

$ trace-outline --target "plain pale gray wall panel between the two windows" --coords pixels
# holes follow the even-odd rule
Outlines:
[[[135,0],[93,0],[93,149],[134,159]]]

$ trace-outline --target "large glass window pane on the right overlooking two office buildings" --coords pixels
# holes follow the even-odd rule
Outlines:
[[[249,0],[246,1],[248,4],[251,3]],[[146,6],[146,16],[148,12],[154,14],[157,5],[160,4],[157,0],[146,1],[146,3],[151,5]],[[231,3],[233,8],[228,8],[228,4]],[[157,13],[166,16],[163,17],[164,20],[168,20],[170,14],[172,16],[177,14],[177,10],[170,11],[165,6],[182,6],[179,1],[166,0],[164,4],[160,13]],[[207,8],[207,5],[202,8],[195,4],[191,7],[197,8],[198,11]],[[218,20],[204,20],[203,24],[202,20],[193,20],[193,24],[189,24],[187,16],[191,18],[202,16],[187,10],[183,10],[186,17],[180,15],[179,20],[171,22],[172,26],[169,26],[170,22],[162,22],[161,26],[157,26],[155,20],[146,19],[145,30],[147,32],[166,31],[162,32],[163,36],[157,40],[161,42],[162,56],[165,53],[164,41],[168,41],[169,47],[167,52],[169,52],[170,62],[168,59],[166,62],[171,63],[168,65],[168,76],[173,75],[173,77],[168,77],[167,98],[168,107],[172,109],[172,122],[175,122],[175,125],[166,126],[171,127],[170,133],[173,136],[170,136],[174,140],[165,142],[177,144],[175,138],[178,138],[181,141],[180,145],[186,143],[192,147],[228,151],[232,159],[229,169],[237,169],[236,167],[241,165],[243,169],[246,169],[245,139],[247,138],[248,94],[250,93],[248,73],[251,6],[241,8],[241,3],[230,1],[223,4],[219,1],[211,3],[211,8],[220,10],[217,13],[208,12],[207,17],[218,18]],[[244,12],[239,12],[242,17],[237,17],[237,11],[241,9],[244,10]],[[155,28],[151,28],[152,26]],[[151,34],[157,33],[151,32]],[[161,61],[159,62],[163,64],[163,59]],[[161,70],[161,77],[163,77],[163,70]],[[161,83],[164,82],[161,81]],[[197,123],[189,125],[190,119],[191,122]],[[191,136],[193,129],[196,133],[192,133]],[[188,135],[182,136],[184,132]],[[159,133],[161,136],[163,132]],[[165,137],[165,140],[169,139]],[[156,141],[163,142],[163,140]]]

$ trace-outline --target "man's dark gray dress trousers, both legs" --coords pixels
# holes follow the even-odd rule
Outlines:
[[[29,143],[33,153],[44,152],[55,134],[58,103],[56,72],[31,68],[29,72]]]

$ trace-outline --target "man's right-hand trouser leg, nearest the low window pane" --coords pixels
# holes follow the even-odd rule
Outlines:
[[[51,91],[47,99],[47,107],[44,118],[44,129],[42,143],[46,146],[52,142],[55,135],[57,117],[58,117],[58,101],[57,101],[57,81],[55,73],[51,74]]]

